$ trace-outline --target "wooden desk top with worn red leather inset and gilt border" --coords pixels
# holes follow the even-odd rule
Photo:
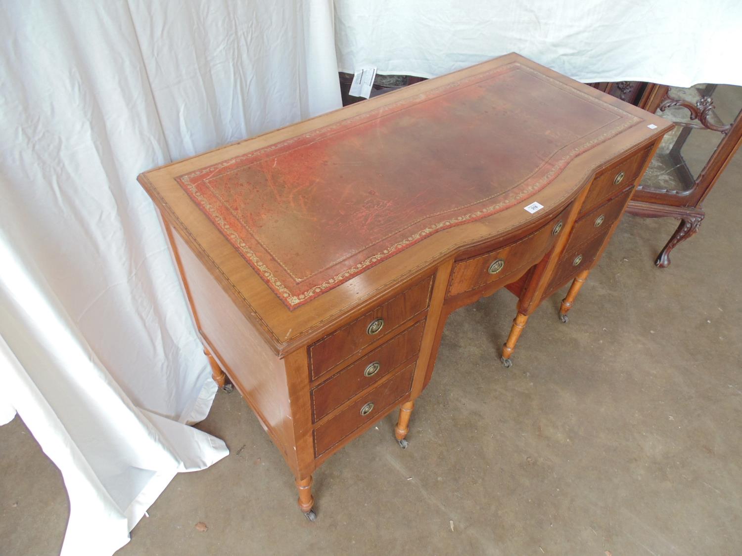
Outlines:
[[[139,182],[285,354],[452,251],[535,228],[668,126],[509,54]]]

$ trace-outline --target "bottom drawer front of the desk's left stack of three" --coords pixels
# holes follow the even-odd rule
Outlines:
[[[381,383],[355,403],[315,428],[315,457],[335,446],[356,428],[384,414],[397,400],[410,392],[415,374],[415,363],[407,365],[393,377]]]

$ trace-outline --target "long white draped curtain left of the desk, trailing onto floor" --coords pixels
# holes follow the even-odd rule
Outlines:
[[[106,554],[177,471],[215,386],[137,173],[340,106],[331,0],[0,4],[0,423]]]

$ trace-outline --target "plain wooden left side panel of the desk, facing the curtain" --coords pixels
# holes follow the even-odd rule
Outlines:
[[[283,360],[263,341],[177,232],[167,222],[165,226],[200,336],[294,469],[294,435]]]

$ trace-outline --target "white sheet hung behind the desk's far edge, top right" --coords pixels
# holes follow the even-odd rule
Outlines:
[[[742,85],[740,0],[335,0],[338,67],[434,77],[517,52],[582,82]]]

